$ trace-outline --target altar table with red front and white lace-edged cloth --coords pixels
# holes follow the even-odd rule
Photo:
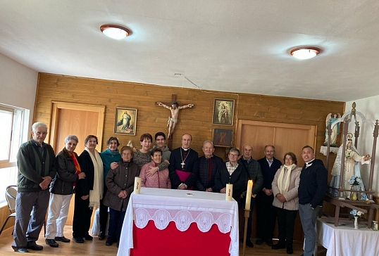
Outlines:
[[[238,254],[237,202],[225,194],[141,188],[130,196],[118,256]]]

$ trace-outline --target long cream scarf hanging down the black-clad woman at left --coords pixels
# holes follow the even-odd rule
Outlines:
[[[94,154],[85,147],[85,151],[89,153],[92,164],[94,165],[94,189],[89,191],[89,208],[95,208],[100,206],[100,200],[103,199],[103,161],[101,161],[99,152],[94,150]]]

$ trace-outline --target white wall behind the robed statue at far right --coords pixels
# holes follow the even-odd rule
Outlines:
[[[379,120],[379,95],[372,96],[369,98],[361,98],[356,101],[349,101],[345,106],[345,113],[352,110],[353,102],[356,103],[356,111],[361,112],[366,120],[371,120],[375,123],[375,120]],[[361,132],[359,135],[358,147],[357,150],[360,155],[372,155],[373,151],[373,127],[368,124],[364,124],[361,122],[359,117],[357,117],[359,121],[359,126],[361,127]],[[354,124],[350,124],[349,132],[354,134]],[[354,140],[353,140],[354,141]],[[376,146],[376,154],[375,154],[375,169],[373,176],[373,191],[375,191],[375,196],[379,196],[379,140]],[[365,186],[368,186],[368,176],[370,172],[369,165],[361,166],[361,175],[364,180]],[[367,188],[366,188],[367,190]]]

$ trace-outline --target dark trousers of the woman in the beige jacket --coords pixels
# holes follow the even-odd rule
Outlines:
[[[278,219],[278,243],[291,246],[294,241],[294,219],[296,219],[297,210],[285,210],[278,207],[275,207],[275,210]]]

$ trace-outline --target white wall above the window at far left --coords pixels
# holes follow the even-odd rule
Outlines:
[[[25,108],[32,126],[38,72],[0,53],[0,103]]]

